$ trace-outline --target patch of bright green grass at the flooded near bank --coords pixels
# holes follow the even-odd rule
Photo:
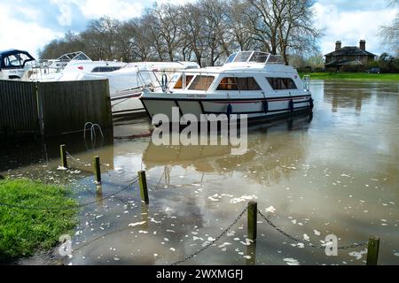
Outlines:
[[[0,180],[1,203],[51,208],[27,210],[0,205],[0,262],[51,249],[60,235],[71,233],[76,225],[76,203],[68,198],[70,194],[71,190],[66,187],[39,181]]]

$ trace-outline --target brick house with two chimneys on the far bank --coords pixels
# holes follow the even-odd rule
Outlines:
[[[376,55],[365,50],[365,41],[359,42],[359,47],[341,47],[341,42],[335,43],[335,51],[325,55],[325,69],[328,71],[340,71],[340,69],[351,68],[353,70],[364,70],[367,65],[375,61]]]

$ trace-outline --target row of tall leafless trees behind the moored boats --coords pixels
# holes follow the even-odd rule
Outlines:
[[[154,4],[138,19],[93,20],[81,34],[66,34],[42,53],[82,46],[93,59],[194,58],[203,66],[217,65],[235,50],[263,50],[280,53],[288,63],[288,54],[317,50],[320,32],[313,25],[312,4],[313,0]]]

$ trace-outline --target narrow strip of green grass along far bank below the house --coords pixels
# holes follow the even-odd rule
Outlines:
[[[301,73],[310,80],[399,80],[399,73]]]

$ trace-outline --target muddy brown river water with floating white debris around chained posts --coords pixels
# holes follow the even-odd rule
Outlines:
[[[72,184],[79,202],[90,203],[64,264],[175,263],[219,236],[250,200],[301,243],[258,216],[258,240],[249,245],[245,214],[183,264],[365,263],[365,246],[338,256],[309,247],[328,234],[340,247],[377,235],[379,264],[399,264],[399,82],[316,80],[311,91],[313,117],[251,126],[240,156],[228,146],[157,147],[142,137],[146,119],[120,120],[113,142],[87,147],[82,135],[66,142],[76,158],[68,171],[57,170],[59,142],[52,142],[6,148],[0,172]],[[148,206],[132,184],[139,170],[147,172]]]

